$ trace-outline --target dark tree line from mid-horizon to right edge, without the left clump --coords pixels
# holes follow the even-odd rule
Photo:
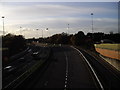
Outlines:
[[[84,34],[83,31],[79,31],[76,34],[54,34],[47,38],[39,38],[39,39],[28,39],[28,41],[39,41],[40,43],[50,43],[50,44],[69,44],[69,45],[76,45],[81,46],[83,48],[89,50],[95,50],[94,44],[95,43],[102,43],[102,40],[107,39],[107,43],[120,43],[120,33],[110,33],[104,34],[102,32],[97,33],[87,33]],[[111,42],[109,42],[109,41]]]

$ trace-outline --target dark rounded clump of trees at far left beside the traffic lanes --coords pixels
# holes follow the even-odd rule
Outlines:
[[[22,35],[7,34],[2,37],[3,59],[23,51],[26,47],[26,40]]]

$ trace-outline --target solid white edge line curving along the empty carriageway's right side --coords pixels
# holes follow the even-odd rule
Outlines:
[[[73,47],[73,46],[71,46],[71,47],[72,47],[73,49],[77,50],[77,51],[82,55],[82,57],[85,59],[85,61],[87,62],[88,66],[89,66],[90,69],[92,70],[92,72],[93,72],[96,80],[98,81],[98,83],[99,83],[99,85],[100,85],[100,88],[101,88],[102,90],[104,90],[102,83],[100,82],[99,78],[97,77],[97,74],[95,73],[94,69],[92,68],[92,66],[90,65],[90,63],[89,63],[88,60],[86,59],[86,57],[81,53],[81,51],[79,51],[78,49],[76,49],[76,48]]]

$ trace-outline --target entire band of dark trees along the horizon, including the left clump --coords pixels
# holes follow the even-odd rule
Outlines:
[[[120,43],[120,33],[110,33],[104,34],[101,32],[98,33],[87,33],[84,34],[83,31],[79,31],[76,34],[55,34],[47,38],[39,38],[39,39],[25,39],[22,35],[12,35],[7,34],[2,37],[2,47],[7,48],[3,50],[3,59],[11,57],[12,55],[19,53],[26,49],[27,43],[31,43],[33,41],[40,43],[48,43],[48,44],[65,44],[65,45],[75,45],[80,46],[82,48],[86,48],[92,51],[95,51],[94,44],[101,43],[101,40],[109,39],[114,43]],[[26,42],[27,41],[27,42]],[[5,57],[5,58],[4,58]]]

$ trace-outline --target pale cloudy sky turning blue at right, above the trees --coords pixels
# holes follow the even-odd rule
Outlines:
[[[87,34],[92,32],[92,16],[94,32],[118,32],[117,2],[1,2],[0,15],[5,16],[6,34],[25,38],[41,37],[42,30],[44,37],[62,32]],[[2,27],[1,18],[0,35]]]

